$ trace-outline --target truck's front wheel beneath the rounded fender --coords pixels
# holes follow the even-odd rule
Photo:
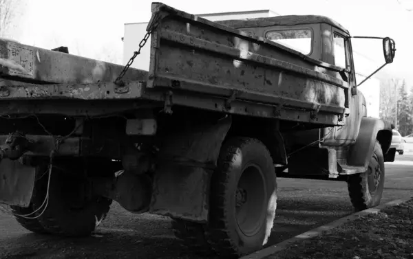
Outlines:
[[[352,174],[348,178],[348,193],[356,211],[380,204],[384,188],[384,169],[383,151],[380,143],[376,141],[368,170],[360,174]]]

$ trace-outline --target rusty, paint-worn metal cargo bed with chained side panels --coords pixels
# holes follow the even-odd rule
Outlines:
[[[337,67],[162,3],[153,3],[152,12],[148,30],[157,27],[151,34],[150,69],[129,68],[123,87],[114,84],[122,66],[1,41],[2,77],[14,82],[0,88],[0,100],[134,102],[123,102],[125,110],[146,101],[166,111],[179,105],[324,125],[343,123],[348,83],[319,72],[330,69],[339,74]],[[59,108],[53,112],[59,113]],[[8,113],[13,113],[10,108]]]

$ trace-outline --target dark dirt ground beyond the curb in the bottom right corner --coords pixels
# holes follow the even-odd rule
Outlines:
[[[413,199],[362,216],[266,259],[413,259]]]

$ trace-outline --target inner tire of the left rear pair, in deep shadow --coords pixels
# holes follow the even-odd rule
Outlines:
[[[61,168],[68,166],[59,165],[59,168],[52,169],[49,201],[46,210],[39,216],[39,223],[51,234],[89,236],[105,219],[112,200],[91,194],[91,185],[85,179]],[[47,181],[39,183],[32,198],[34,209],[43,203],[47,192]]]

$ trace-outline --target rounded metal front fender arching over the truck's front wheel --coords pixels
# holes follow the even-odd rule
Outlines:
[[[379,140],[383,155],[386,155],[392,142],[390,122],[373,117],[361,118],[359,135],[356,143],[350,147],[347,164],[367,169],[376,140]]]

